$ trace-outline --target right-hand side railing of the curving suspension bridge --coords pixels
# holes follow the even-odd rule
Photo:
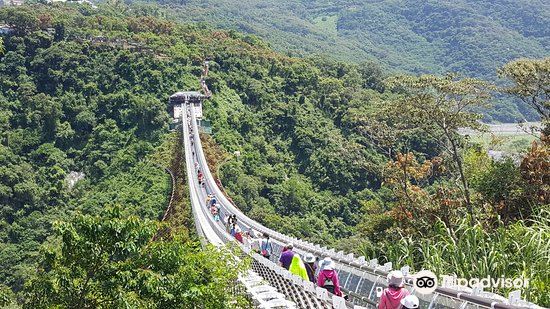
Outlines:
[[[286,236],[277,231],[271,230],[260,223],[250,219],[242,213],[233,203],[225,196],[224,192],[218,187],[209,167],[202,143],[199,136],[199,130],[193,105],[190,104],[190,124],[192,128],[192,140],[194,145],[194,157],[197,160],[198,166],[204,175],[205,181],[205,196],[212,193],[218,203],[221,205],[224,213],[234,214],[237,216],[239,224],[254,229],[261,233],[267,233],[274,245],[275,256],[280,253],[281,248],[287,243],[293,243],[294,250],[300,254],[312,253],[318,257],[331,257],[336,262],[336,269],[339,271],[342,278],[346,278],[343,282],[342,290],[351,295],[351,299],[355,304],[361,306],[374,306],[376,300],[376,290],[386,287],[385,278],[391,271],[391,263],[389,265],[378,265],[376,262],[365,261],[364,257],[355,258],[353,254],[345,255],[342,251],[336,252],[334,249],[321,247],[320,245],[312,244],[301,239]],[[218,223],[219,224],[219,223]],[[412,278],[407,278],[407,288],[414,293],[412,289]],[[485,308],[502,308],[512,309],[521,308],[507,304],[503,301],[503,297],[492,293],[485,295],[472,295],[469,291],[453,290],[450,288],[438,288],[433,295],[418,295],[422,303],[429,305],[433,302],[434,306],[446,306],[451,308],[459,308],[461,306],[485,307]]]

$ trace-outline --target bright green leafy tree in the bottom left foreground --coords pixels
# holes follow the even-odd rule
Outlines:
[[[223,308],[237,279],[234,257],[183,244],[151,243],[157,225],[126,217],[120,207],[80,215],[54,228],[39,273],[26,285],[27,308]]]

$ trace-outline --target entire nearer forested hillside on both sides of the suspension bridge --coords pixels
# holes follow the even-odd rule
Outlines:
[[[181,235],[148,241],[168,191],[152,164],[167,157],[153,154],[165,151],[168,96],[197,89],[208,58],[213,141],[241,151],[222,163],[220,178],[252,218],[395,267],[526,276],[523,296],[550,303],[548,140],[524,149],[518,166],[458,134],[479,128],[472,110],[490,101],[488,83],[388,78],[373,63],[289,57],[257,36],[171,22],[155,6],[115,5],[0,10],[13,29],[0,58],[2,301],[10,290],[29,308],[116,307],[114,295],[164,308],[205,295],[227,307],[223,288],[236,272],[208,257],[229,257],[198,252]],[[503,74],[510,84],[546,85],[549,70],[546,58],[511,63]],[[545,106],[544,94],[508,90]],[[70,171],[86,175],[72,189]],[[107,267],[91,271],[97,263]],[[71,297],[90,274],[86,297]],[[197,285],[201,277],[208,280]]]

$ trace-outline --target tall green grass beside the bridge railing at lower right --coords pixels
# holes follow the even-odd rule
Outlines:
[[[382,248],[384,257],[415,270],[430,269],[439,275],[461,278],[526,278],[522,296],[538,305],[550,306],[550,211],[543,208],[535,219],[487,229],[467,219],[450,229],[434,226],[434,237],[403,237]],[[512,289],[494,289],[508,295]]]

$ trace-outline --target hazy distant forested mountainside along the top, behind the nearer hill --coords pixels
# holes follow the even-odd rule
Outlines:
[[[496,68],[508,61],[550,54],[550,4],[542,0],[155,2],[169,4],[166,14],[183,22],[255,34],[278,51],[374,60],[390,71],[496,80]],[[512,101],[486,114],[488,121],[534,119]]]

